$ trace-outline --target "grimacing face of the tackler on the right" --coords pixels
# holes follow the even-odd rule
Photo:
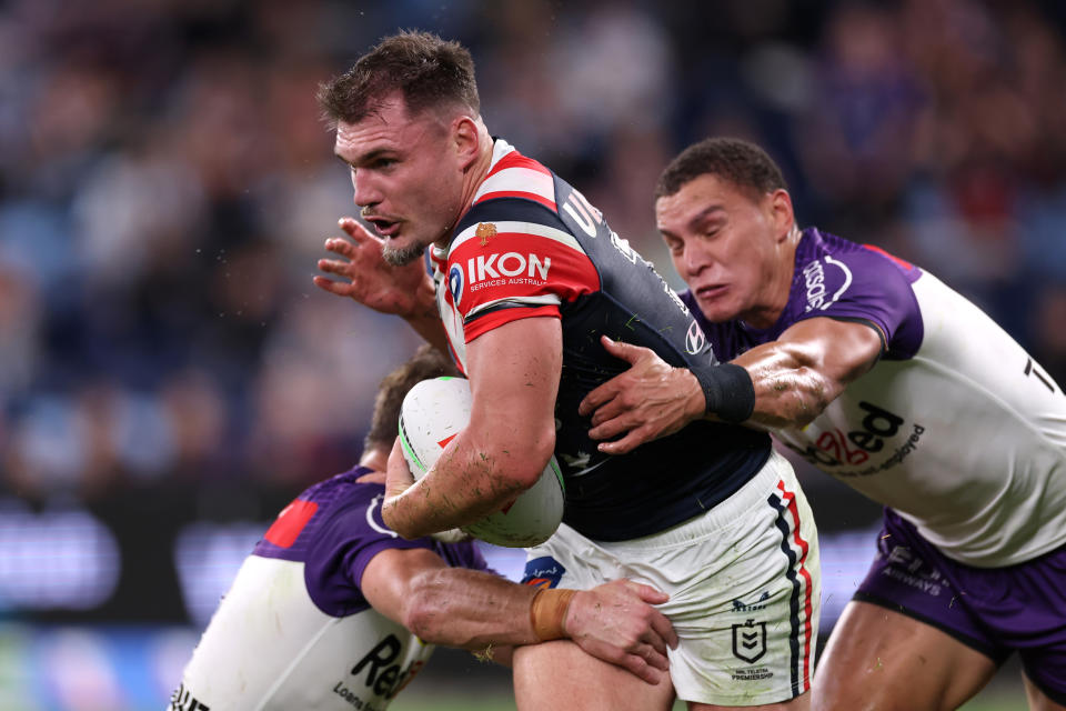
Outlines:
[[[707,320],[740,318],[757,328],[773,326],[787,301],[793,267],[783,263],[791,257],[782,246],[792,228],[785,191],[756,199],[705,173],[660,198],[655,217],[674,268]]]

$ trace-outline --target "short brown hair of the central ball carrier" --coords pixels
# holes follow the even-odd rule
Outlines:
[[[474,60],[459,42],[430,32],[386,37],[346,72],[319,86],[323,119],[358,123],[400,91],[411,116],[446,104],[481,111]]]

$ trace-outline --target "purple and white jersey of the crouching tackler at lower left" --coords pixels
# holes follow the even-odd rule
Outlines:
[[[355,468],[304,491],[245,559],[174,692],[172,711],[380,710],[433,650],[376,612],[363,570],[389,549],[425,548],[485,570],[473,542],[408,541],[381,520],[384,487]]]

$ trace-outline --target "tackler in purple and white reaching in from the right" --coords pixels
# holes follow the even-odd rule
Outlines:
[[[876,248],[800,230],[757,147],[710,139],[663,172],[682,298],[755,387],[748,423],[886,504],[813,707],[955,709],[1009,654],[1066,709],[1066,397],[973,303]],[[630,371],[582,403],[624,452],[704,417],[696,379],[605,342]],[[621,435],[621,437],[620,437]]]

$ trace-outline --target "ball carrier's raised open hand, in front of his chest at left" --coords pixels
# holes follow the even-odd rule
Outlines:
[[[421,260],[403,267],[388,263],[382,249],[384,241],[366,230],[354,218],[341,218],[340,228],[351,239],[331,237],[326,251],[339,259],[320,259],[320,271],[340,277],[340,280],[316,276],[314,286],[339,297],[349,297],[374,311],[410,318],[425,310],[433,300],[433,282]]]

